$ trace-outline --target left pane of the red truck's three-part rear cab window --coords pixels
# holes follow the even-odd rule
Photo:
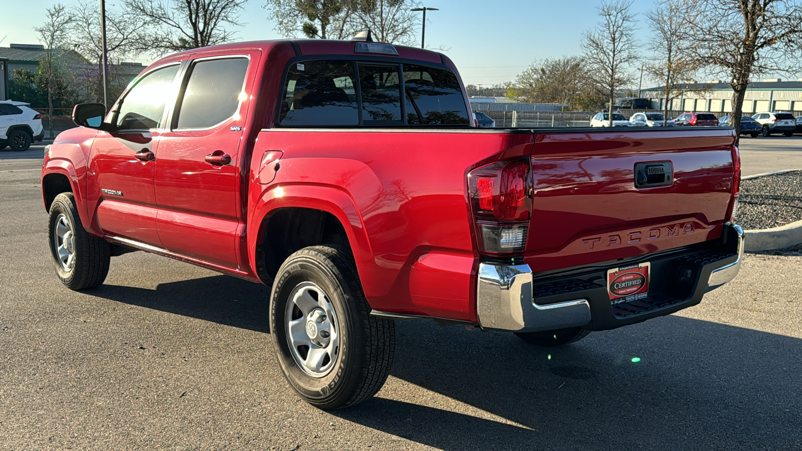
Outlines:
[[[290,66],[279,124],[358,125],[354,63],[308,61]]]

